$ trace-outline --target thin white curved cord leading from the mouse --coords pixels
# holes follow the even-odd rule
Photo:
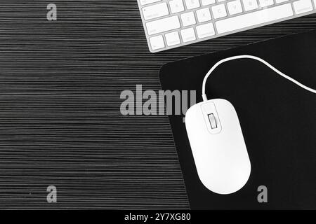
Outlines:
[[[237,56],[233,56],[233,57],[228,57],[225,59],[221,59],[219,62],[217,62],[216,64],[214,64],[214,66],[211,67],[211,69],[209,70],[208,73],[206,73],[204,80],[203,80],[203,85],[202,85],[202,97],[203,97],[203,101],[207,101],[207,97],[205,94],[205,85],[206,85],[206,80],[207,78],[209,78],[209,75],[211,75],[211,73],[216,69],[216,67],[224,62],[228,62],[231,60],[235,60],[235,59],[242,59],[242,58],[249,58],[249,59],[255,59],[259,62],[262,62],[263,64],[265,64],[266,66],[268,66],[270,69],[272,69],[273,71],[275,71],[276,73],[278,73],[280,76],[287,78],[288,80],[290,80],[291,82],[295,83],[296,85],[302,87],[305,90],[308,90],[310,92],[313,92],[316,94],[316,90],[313,90],[310,87],[307,87],[306,85],[303,85],[302,83],[299,83],[297,80],[295,80],[294,78],[291,78],[289,76],[287,76],[286,74],[282,73],[281,71],[275,69],[274,66],[272,66],[271,64],[269,64],[268,62],[265,62],[264,59],[261,59],[260,57],[256,57],[256,56],[252,56],[252,55],[237,55]]]

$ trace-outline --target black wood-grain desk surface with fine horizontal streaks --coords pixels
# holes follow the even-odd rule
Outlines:
[[[168,118],[121,116],[121,91],[159,90],[166,62],[315,25],[309,15],[152,55],[136,0],[1,0],[0,209],[189,208]]]

